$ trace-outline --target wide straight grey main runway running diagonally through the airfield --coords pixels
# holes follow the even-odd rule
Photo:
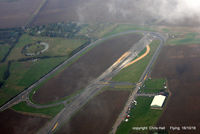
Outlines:
[[[150,35],[146,34],[140,41],[133,45],[129,50],[129,55],[121,59],[119,62],[115,62],[110,68],[108,68],[101,76],[96,80],[91,82],[91,84],[84,89],[82,94],[77,97],[73,102],[71,102],[64,110],[62,110],[59,116],[56,116],[52,119],[45,127],[43,127],[38,134],[53,133],[55,130],[54,126],[58,128],[65,122],[67,122],[74,113],[76,113],[82,106],[84,106],[95,94],[101,90],[105,84],[99,84],[104,81],[105,83],[109,82],[113,76],[115,76],[124,66],[132,61],[139,52],[141,52],[146,45],[150,44],[152,38]]]

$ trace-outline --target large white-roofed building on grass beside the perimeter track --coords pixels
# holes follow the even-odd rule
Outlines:
[[[156,95],[153,98],[153,101],[151,102],[152,108],[161,108],[163,106],[163,103],[165,102],[166,96],[164,95]]]

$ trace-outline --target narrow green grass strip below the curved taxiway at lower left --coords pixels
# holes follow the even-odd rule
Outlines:
[[[49,107],[49,108],[39,108],[38,109],[38,108],[28,106],[26,104],[26,102],[20,102],[19,104],[12,107],[12,109],[15,111],[42,114],[42,115],[47,115],[50,117],[54,117],[63,108],[64,108],[64,105],[60,104],[60,105]]]

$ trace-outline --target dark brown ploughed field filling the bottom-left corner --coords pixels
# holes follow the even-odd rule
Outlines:
[[[0,113],[1,134],[35,134],[47,118],[35,117],[6,110]]]

